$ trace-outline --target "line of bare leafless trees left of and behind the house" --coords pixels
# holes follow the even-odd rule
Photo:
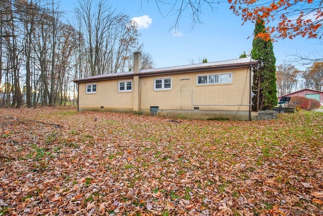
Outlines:
[[[1,106],[74,103],[73,79],[131,70],[142,49],[136,24],[105,1],[78,3],[72,25],[53,0],[0,1]]]

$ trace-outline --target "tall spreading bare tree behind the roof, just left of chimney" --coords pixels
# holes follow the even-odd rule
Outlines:
[[[136,26],[129,17],[115,14],[106,2],[79,0],[76,9],[87,49],[90,75],[123,71],[130,53],[138,49]]]

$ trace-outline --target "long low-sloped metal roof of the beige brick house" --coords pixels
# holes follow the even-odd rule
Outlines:
[[[105,80],[105,79],[126,78],[126,77],[132,77],[134,75],[151,76],[151,75],[170,74],[170,73],[187,73],[187,72],[194,72],[194,71],[241,68],[241,67],[255,66],[257,64],[258,64],[257,60],[247,57],[247,58],[231,59],[231,60],[218,61],[218,62],[207,62],[207,63],[200,63],[200,64],[142,69],[139,71],[138,74],[134,74],[133,71],[120,72],[120,73],[106,73],[106,74],[101,74],[96,76],[89,76],[85,78],[75,79],[74,82],[78,83],[78,82],[96,81],[96,80]]]

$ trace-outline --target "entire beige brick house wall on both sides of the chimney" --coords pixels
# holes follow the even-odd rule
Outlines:
[[[200,86],[196,83],[196,75],[229,72],[232,72],[232,84]],[[159,109],[165,110],[193,110],[194,107],[199,107],[199,110],[248,111],[249,107],[246,105],[249,103],[249,72],[249,69],[242,68],[140,77],[139,108],[150,110],[150,106],[158,106]],[[166,77],[172,78],[172,90],[154,91],[154,78]],[[120,80],[133,80],[133,78],[88,82],[96,83],[96,94],[85,94],[87,83],[79,83],[80,110],[99,109],[101,106],[104,109],[128,110],[136,107],[133,106],[136,101],[133,98],[134,91],[118,93]]]

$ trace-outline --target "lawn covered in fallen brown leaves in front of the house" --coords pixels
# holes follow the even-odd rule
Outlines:
[[[0,109],[0,215],[323,215],[323,113]]]

